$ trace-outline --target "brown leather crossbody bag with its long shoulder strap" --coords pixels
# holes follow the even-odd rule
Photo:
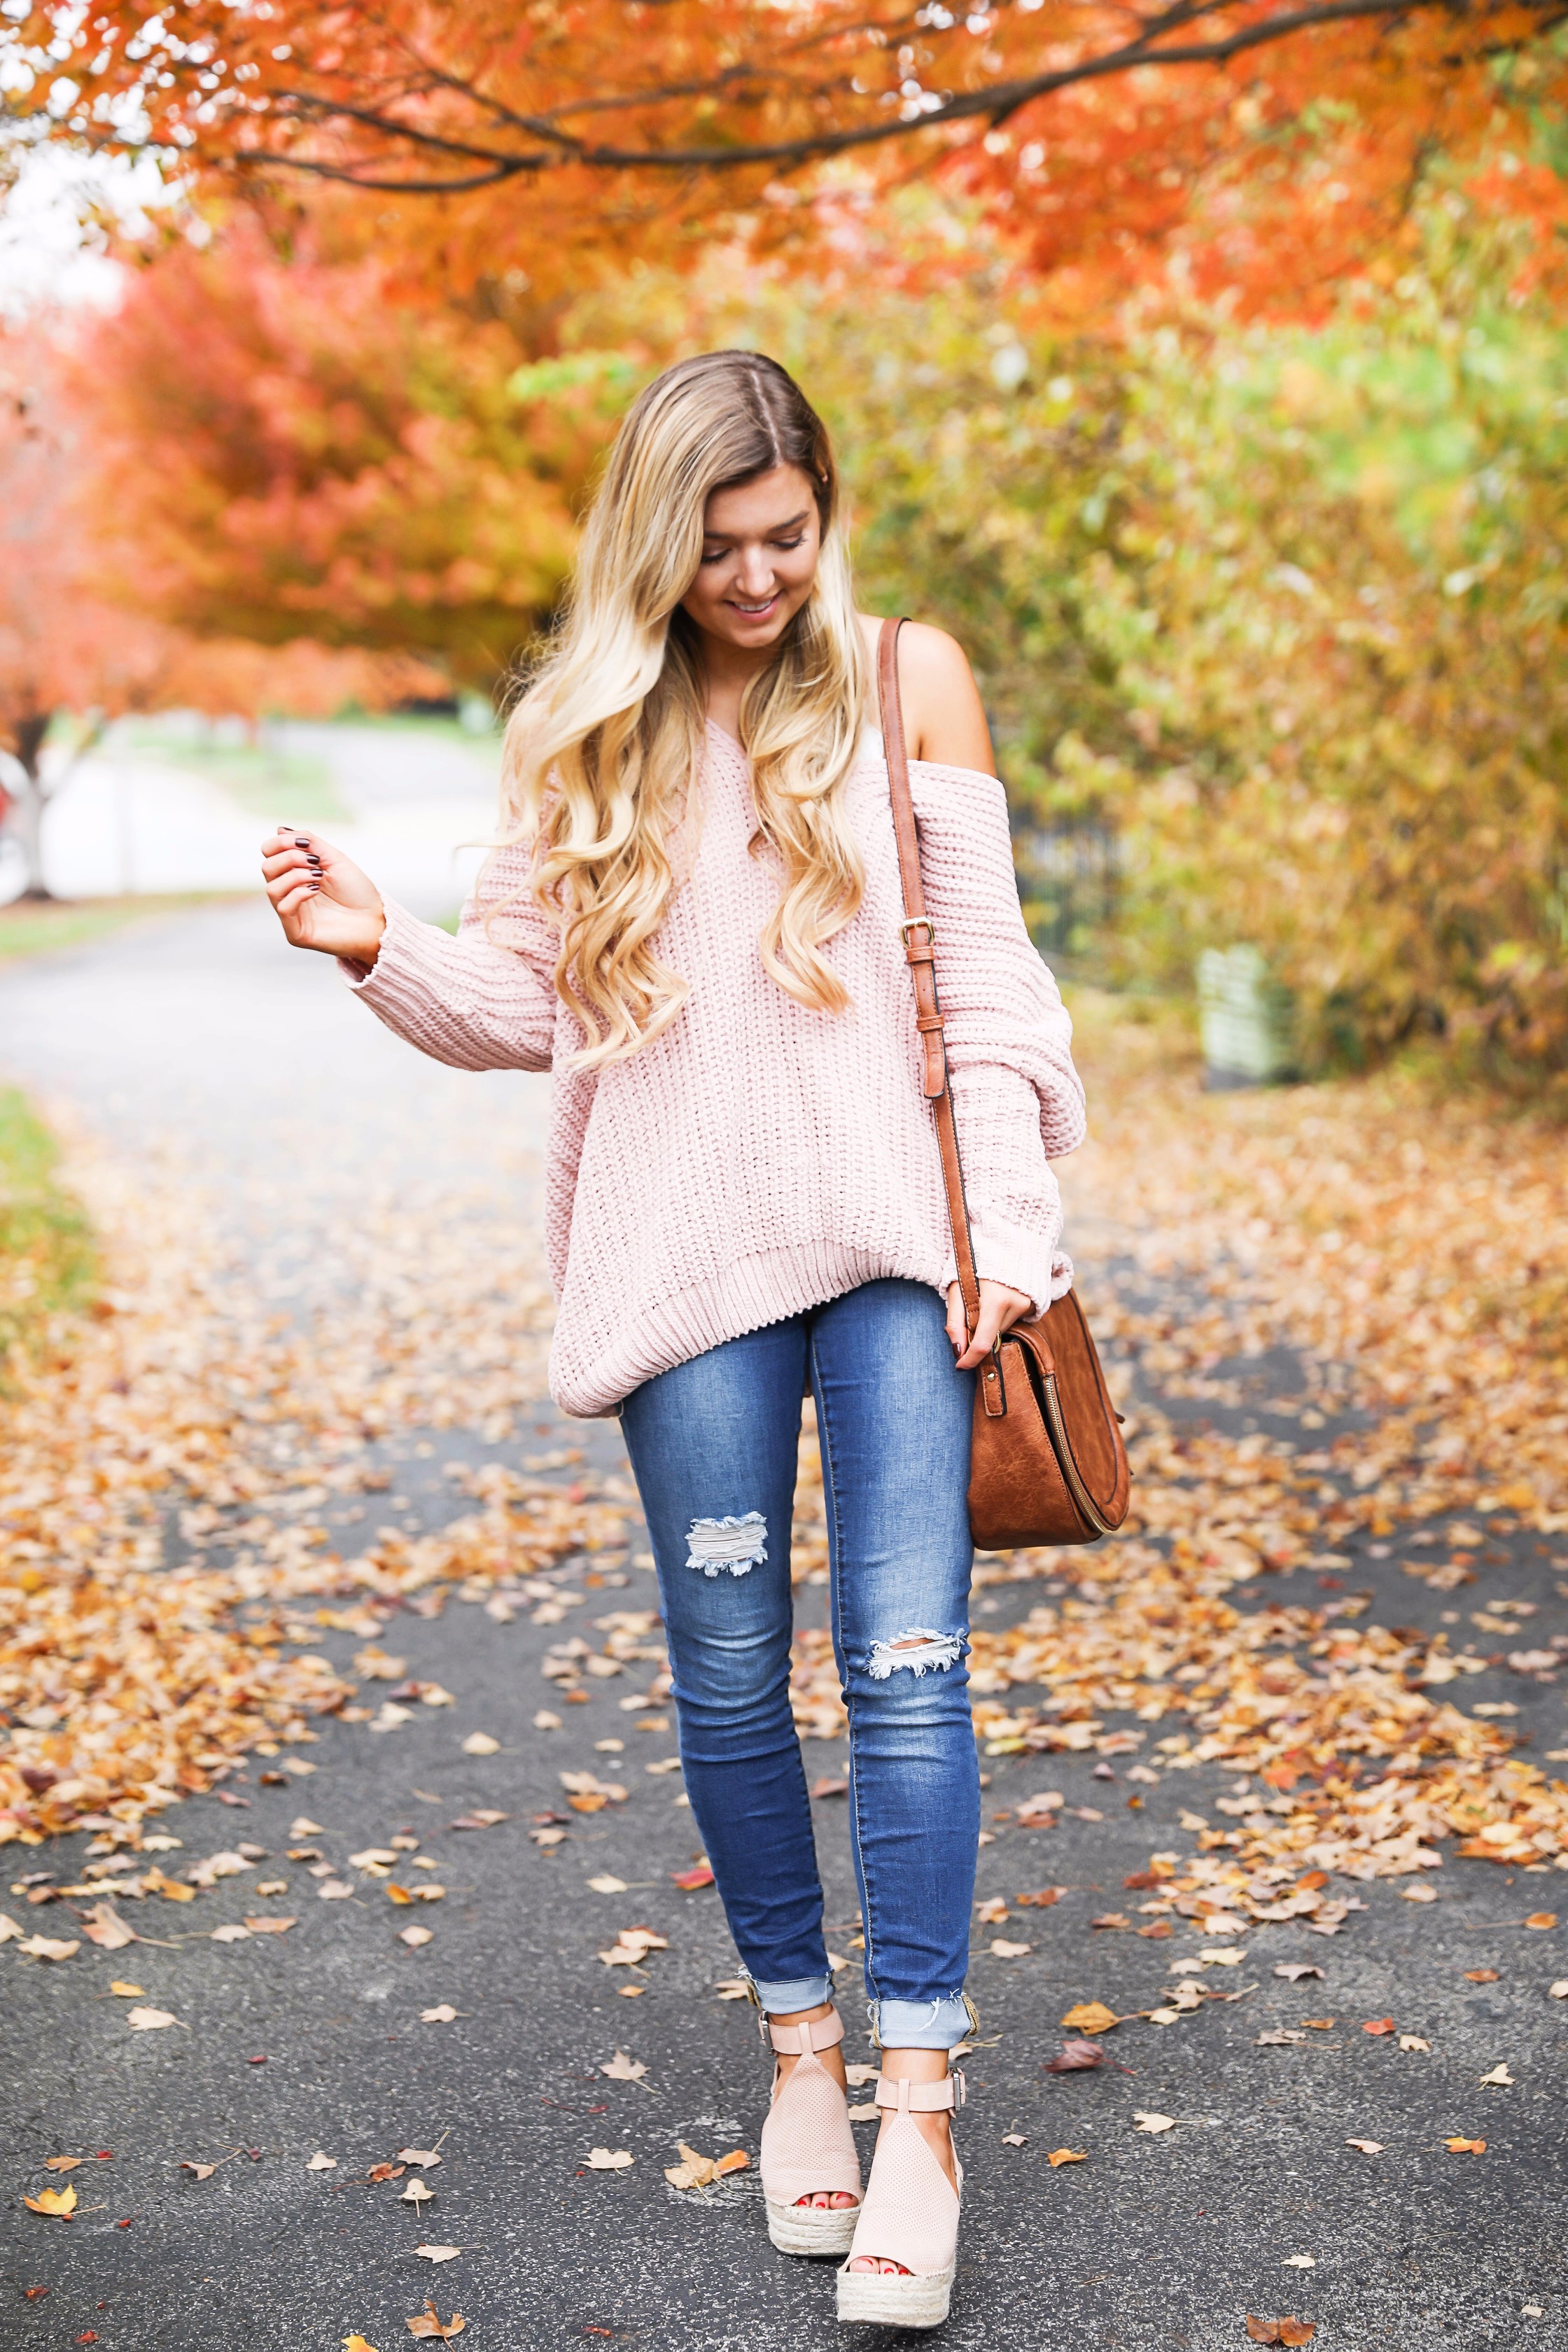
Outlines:
[[[877,696],[903,882],[903,953],[914,981],[914,1025],[924,1049],[924,1091],[943,1155],[952,1254],[969,1331],[980,1319],[980,1282],[969,1237],[959,1134],[947,1089],[943,1009],[936,995],[936,929],[919,877],[919,833],[910,800],[910,757],[898,703],[898,630],[882,623]],[[1098,1543],[1126,1519],[1126,1446],[1105,1388],[1084,1308],[1067,1291],[1044,1315],[1004,1331],[976,1378],[976,1430],[969,1468],[969,1526],[976,1543]]]

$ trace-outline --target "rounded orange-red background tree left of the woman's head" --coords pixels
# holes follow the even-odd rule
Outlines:
[[[296,240],[306,247],[306,240]],[[115,593],[179,628],[418,654],[473,687],[555,602],[616,362],[529,318],[388,301],[374,261],[240,219],[132,275],[85,341]]]

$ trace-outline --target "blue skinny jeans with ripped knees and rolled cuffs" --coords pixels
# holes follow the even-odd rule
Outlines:
[[[865,1990],[884,2049],[952,2049],[980,1828],[969,1425],[943,1301],[867,1282],[644,1381],[621,1428],[654,1538],[686,1795],[764,2009],[832,1994],[790,1717],[802,1390],[823,1446]]]

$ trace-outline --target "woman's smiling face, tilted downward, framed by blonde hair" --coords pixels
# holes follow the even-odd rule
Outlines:
[[[703,508],[703,560],[682,612],[708,637],[766,652],[811,595],[823,529],[799,466],[715,489]]]

